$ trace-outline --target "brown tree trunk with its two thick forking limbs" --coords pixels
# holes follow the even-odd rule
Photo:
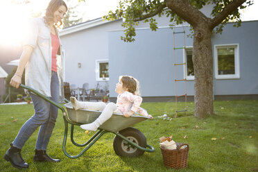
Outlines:
[[[212,30],[245,1],[231,1],[211,19],[191,6],[193,1],[164,0],[168,8],[193,27],[194,116],[196,117],[204,118],[213,114]]]

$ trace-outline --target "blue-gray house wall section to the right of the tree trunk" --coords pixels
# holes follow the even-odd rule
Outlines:
[[[213,48],[215,44],[239,44],[240,78],[214,79],[215,95],[258,94],[257,28],[258,21],[243,22],[239,28],[227,24],[222,34],[212,37]]]

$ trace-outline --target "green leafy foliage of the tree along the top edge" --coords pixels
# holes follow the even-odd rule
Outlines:
[[[80,0],[85,1],[85,0]],[[180,18],[180,15],[176,14],[172,10],[164,10],[166,8],[166,3],[182,3],[182,6],[187,6],[188,3],[194,8],[200,10],[204,6],[210,5],[213,6],[211,16],[216,17],[218,14],[223,12],[223,10],[227,10],[227,6],[229,6],[234,1],[232,0],[185,0],[184,1],[176,1],[176,0],[121,0],[119,2],[119,6],[117,10],[114,12],[110,11],[107,15],[103,17],[106,20],[114,20],[123,18],[123,28],[125,28],[124,33],[125,36],[121,37],[121,40],[125,42],[132,42],[135,39],[135,26],[138,25],[139,21],[149,22],[150,28],[152,31],[157,31],[157,22],[153,18],[155,15],[161,17],[166,15],[166,17],[170,17],[171,24],[169,26],[174,26],[175,24],[182,24],[184,22],[183,19]],[[246,8],[247,6],[252,5],[253,0],[248,0],[246,3],[239,6],[232,12],[231,15],[225,17],[223,22],[216,27],[216,33],[222,33],[223,26],[227,22],[236,22],[234,26],[241,26],[240,12]]]

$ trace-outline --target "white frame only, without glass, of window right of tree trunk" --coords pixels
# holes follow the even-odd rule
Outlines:
[[[219,75],[218,74],[218,48],[234,48],[234,74]],[[239,79],[239,44],[216,44],[214,45],[214,65],[216,79]]]

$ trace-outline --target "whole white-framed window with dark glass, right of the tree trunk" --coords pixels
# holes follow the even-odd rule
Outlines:
[[[215,78],[240,78],[239,75],[239,45],[215,45]]]

